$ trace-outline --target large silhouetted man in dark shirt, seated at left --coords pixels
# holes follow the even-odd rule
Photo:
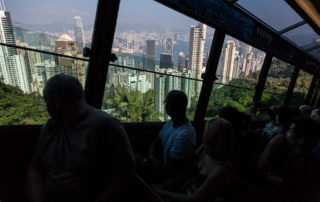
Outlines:
[[[74,77],[52,77],[43,95],[51,118],[41,129],[28,172],[30,201],[116,198],[135,169],[134,153],[121,124],[89,106]]]

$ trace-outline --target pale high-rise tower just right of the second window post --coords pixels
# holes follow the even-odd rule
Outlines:
[[[222,52],[221,63],[217,74],[220,76],[220,82],[228,83],[233,78],[233,67],[236,46],[234,41],[229,40]]]

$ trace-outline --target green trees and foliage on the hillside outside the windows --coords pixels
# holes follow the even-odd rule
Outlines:
[[[290,65],[280,60],[273,61],[261,99],[267,106],[282,104],[292,71]],[[252,104],[258,77],[259,72],[255,72],[246,78],[231,80],[230,85],[215,85],[211,92],[206,117],[216,116],[222,107],[228,105],[247,112]],[[311,80],[310,74],[300,71],[291,104],[303,104]],[[103,108],[110,109],[109,113],[124,122],[161,121],[165,115],[155,110],[156,95],[155,90],[141,93],[120,86],[106,88]],[[191,120],[196,105],[197,98],[194,97],[187,111],[187,116]],[[34,93],[25,94],[17,87],[0,83],[0,125],[43,124],[47,118],[48,114],[41,96]]]

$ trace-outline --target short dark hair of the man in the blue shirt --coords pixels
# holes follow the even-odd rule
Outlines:
[[[172,90],[168,93],[165,103],[171,107],[172,112],[185,114],[188,105],[188,98],[183,91]]]

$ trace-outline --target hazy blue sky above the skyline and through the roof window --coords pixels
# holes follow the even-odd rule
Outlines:
[[[93,25],[97,0],[4,0],[14,21],[28,24],[72,23],[79,15],[85,25]],[[277,30],[301,18],[284,0],[239,0],[238,3]],[[157,23],[162,27],[185,27],[196,22],[153,0],[121,0],[119,22]],[[303,31],[303,30],[302,30]]]

